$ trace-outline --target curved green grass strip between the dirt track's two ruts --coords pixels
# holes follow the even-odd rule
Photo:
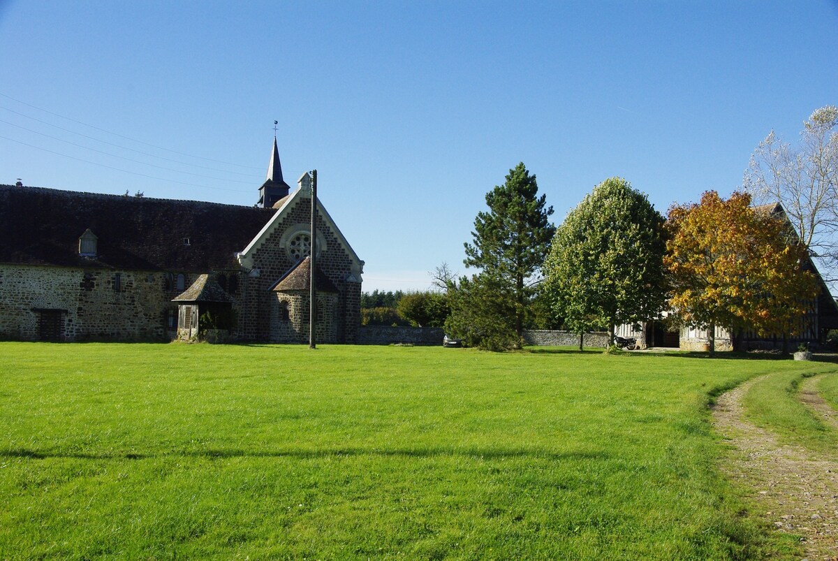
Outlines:
[[[748,418],[776,434],[782,443],[834,455],[838,431],[831,429],[799,399],[799,387],[804,378],[825,370],[835,371],[835,366],[831,369],[823,365],[808,366],[800,371],[778,372],[754,383],[742,400]],[[835,376],[825,377],[821,385],[832,378]]]

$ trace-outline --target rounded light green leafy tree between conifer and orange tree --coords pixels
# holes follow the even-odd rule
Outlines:
[[[566,329],[638,324],[665,304],[664,219],[628,181],[606,179],[566,217],[545,263]]]

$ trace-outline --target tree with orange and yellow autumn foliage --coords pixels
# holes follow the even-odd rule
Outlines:
[[[794,335],[818,293],[789,224],[750,203],[745,193],[722,200],[707,191],[701,203],[669,210],[670,306],[685,325],[709,330],[711,352],[716,325],[734,340],[742,330]]]

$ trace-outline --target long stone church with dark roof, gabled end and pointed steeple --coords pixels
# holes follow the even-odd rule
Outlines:
[[[0,340],[354,343],[364,262],[274,139],[256,206],[0,185]],[[309,257],[314,239],[316,267]]]

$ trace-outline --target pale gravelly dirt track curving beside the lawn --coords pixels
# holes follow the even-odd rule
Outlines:
[[[742,396],[758,380],[718,397],[713,408],[716,431],[734,450],[722,469],[751,490],[749,498],[778,532],[802,536],[810,561],[838,560],[838,461],[780,445],[773,434],[744,418]],[[804,388],[810,388],[807,399],[811,399],[807,403],[812,403],[820,396],[811,385],[815,381],[807,382]],[[829,408],[826,403],[823,406]],[[835,421],[835,412],[830,414]]]

